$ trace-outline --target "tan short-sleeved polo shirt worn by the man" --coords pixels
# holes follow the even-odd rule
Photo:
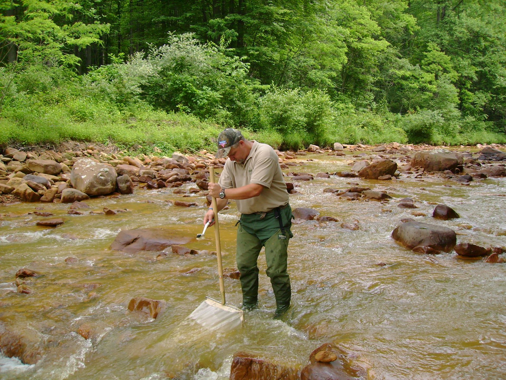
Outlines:
[[[286,183],[276,152],[270,145],[255,140],[252,142],[253,146],[244,164],[227,159],[218,181],[222,188],[236,188],[250,183],[264,186],[258,197],[235,201],[241,214],[267,212],[288,203]]]

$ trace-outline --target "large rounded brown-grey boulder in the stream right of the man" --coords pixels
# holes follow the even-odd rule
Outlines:
[[[423,245],[445,252],[450,252],[457,243],[457,236],[452,229],[416,221],[399,225],[392,232],[392,238],[410,249]]]

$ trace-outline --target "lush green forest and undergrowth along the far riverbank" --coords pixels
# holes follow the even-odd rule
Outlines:
[[[0,0],[0,144],[505,143],[504,0]]]

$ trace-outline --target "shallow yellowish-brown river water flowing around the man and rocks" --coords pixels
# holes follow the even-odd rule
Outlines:
[[[312,159],[314,161],[306,161]],[[288,171],[349,170],[351,156],[312,154]],[[274,295],[260,258],[260,309],[246,313],[240,331],[208,333],[187,322],[206,295],[219,298],[216,257],[179,256],[168,251],[124,254],[108,247],[121,229],[166,227],[195,237],[202,231],[205,199],[172,194],[172,189],[87,201],[94,210],[126,208],[118,215],[67,215],[65,204],[15,204],[0,208],[0,321],[12,331],[45,342],[36,364],[0,356],[3,379],[188,379],[228,378],[237,351],[302,368],[311,351],[333,341],[349,352],[352,364],[369,379],[459,379],[506,377],[506,264],[455,258],[455,253],[423,255],[390,237],[400,220],[446,225],[457,242],[506,247],[506,178],[461,185],[436,177],[402,181],[315,178],[296,182],[292,208],[310,207],[342,222],[358,220],[359,230],[340,223],[305,221],[293,226],[288,268],[292,308],[285,321],[272,319]],[[289,179],[287,179],[289,180]],[[346,201],[323,193],[348,182],[386,190],[389,203]],[[194,184],[185,184],[189,188]],[[450,185],[451,187],[449,187]],[[412,197],[418,209],[397,201]],[[166,200],[194,201],[177,207]],[[149,202],[148,202],[149,201]],[[453,207],[459,219],[435,221],[434,205]],[[39,227],[27,215],[42,206],[65,223]],[[414,217],[413,211],[427,216]],[[235,268],[232,204],[220,214],[224,267]],[[187,246],[214,250],[214,229]],[[74,257],[74,262],[65,258]],[[31,294],[13,292],[18,269],[41,276],[28,280]],[[197,268],[191,274],[185,274]],[[241,302],[238,280],[226,279],[227,300]],[[132,297],[165,300],[153,320],[129,312]],[[86,324],[90,339],[76,333]]]

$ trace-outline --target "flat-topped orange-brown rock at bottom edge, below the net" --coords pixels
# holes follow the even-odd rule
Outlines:
[[[237,352],[230,367],[230,380],[298,380],[296,368],[270,362],[256,355]]]

